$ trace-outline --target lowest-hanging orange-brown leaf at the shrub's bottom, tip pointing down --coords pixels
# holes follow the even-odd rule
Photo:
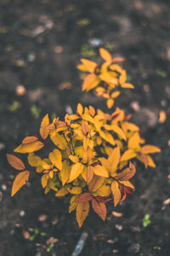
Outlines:
[[[77,223],[79,228],[82,227],[84,220],[88,217],[89,202],[78,202],[77,203]]]

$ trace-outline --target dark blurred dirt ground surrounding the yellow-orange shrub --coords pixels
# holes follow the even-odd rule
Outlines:
[[[169,0],[0,0],[0,255],[68,256],[82,232],[88,239],[80,255],[170,255],[169,14]],[[98,60],[99,47],[125,57],[135,90],[126,90],[116,105],[133,113],[146,143],[161,154],[155,169],[138,163],[134,195],[119,207],[109,204],[105,223],[90,212],[79,230],[75,212],[53,193],[43,195],[36,174],[10,197],[15,171],[6,153],[38,130],[45,113],[63,117],[77,102],[106,109],[82,93],[77,71],[82,56]],[[16,93],[20,84],[24,96]],[[160,111],[167,113],[163,123]],[[26,231],[37,235],[26,239]]]

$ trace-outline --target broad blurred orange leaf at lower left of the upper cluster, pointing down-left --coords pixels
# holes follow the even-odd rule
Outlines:
[[[92,90],[96,86],[98,86],[99,83],[100,83],[100,79],[94,73],[88,74],[88,76],[85,77],[82,83],[82,91]]]

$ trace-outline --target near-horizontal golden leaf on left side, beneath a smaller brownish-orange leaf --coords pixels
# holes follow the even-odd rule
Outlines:
[[[18,148],[15,148],[14,152],[23,153],[23,154],[31,153],[41,149],[43,146],[44,144],[40,141],[36,141],[33,143],[24,143],[24,144],[20,144]]]

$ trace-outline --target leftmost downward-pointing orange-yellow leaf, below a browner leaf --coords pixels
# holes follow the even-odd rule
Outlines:
[[[20,172],[15,177],[13,187],[12,187],[11,196],[16,194],[16,192],[18,192],[18,190],[20,190],[20,188],[23,187],[26,184],[26,182],[28,181],[29,176],[30,176],[29,171],[23,171],[23,172]]]

